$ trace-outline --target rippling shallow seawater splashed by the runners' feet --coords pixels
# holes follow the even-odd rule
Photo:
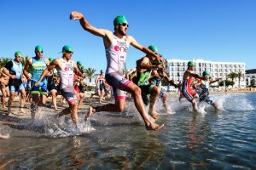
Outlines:
[[[132,103],[125,113],[100,113],[78,132],[70,120],[44,113],[37,122],[1,126],[3,169],[255,169],[256,94],[212,95],[221,111],[169,99],[160,131],[148,132]],[[158,111],[163,109],[160,101]]]

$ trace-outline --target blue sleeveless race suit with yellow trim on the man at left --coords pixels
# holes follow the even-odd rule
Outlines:
[[[34,86],[35,82],[38,82],[40,79],[44,69],[46,69],[47,65],[44,57],[41,59],[36,59],[36,57],[32,58],[32,88],[31,94],[44,94],[47,95],[47,78],[44,77],[43,80],[38,84],[38,86]]]

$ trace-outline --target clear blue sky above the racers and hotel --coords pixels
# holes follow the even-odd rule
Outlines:
[[[58,58],[68,44],[75,61],[105,70],[102,38],[69,20],[76,10],[91,25],[110,31],[114,17],[124,14],[127,33],[146,47],[156,45],[166,59],[244,62],[255,69],[255,8],[254,0],[1,0],[0,57],[13,58],[18,50],[33,57],[40,44],[45,57]],[[131,46],[127,68],[143,56]]]

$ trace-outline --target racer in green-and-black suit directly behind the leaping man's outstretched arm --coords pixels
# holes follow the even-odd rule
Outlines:
[[[158,54],[158,49],[156,46],[150,45],[148,47],[154,54]],[[151,77],[151,72],[153,69],[159,69],[162,65],[153,65],[152,61],[155,59],[154,55],[147,54],[142,59],[137,60],[137,81],[136,84],[142,90],[143,102],[145,105],[149,105],[148,114],[154,119],[159,118],[159,113],[154,109],[157,97],[160,94],[160,88],[154,84],[148,82]],[[149,98],[150,96],[150,98]],[[149,99],[148,99],[149,98]]]

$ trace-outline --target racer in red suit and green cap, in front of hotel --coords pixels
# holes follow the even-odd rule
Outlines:
[[[182,93],[183,96],[191,102],[193,105],[193,110],[198,111],[198,107],[195,101],[195,98],[198,98],[198,94],[196,94],[195,89],[191,88],[191,82],[193,82],[194,78],[199,78],[204,80],[205,77],[201,77],[192,71],[195,71],[195,62],[189,61],[188,62],[188,69],[183,74],[183,89]]]

